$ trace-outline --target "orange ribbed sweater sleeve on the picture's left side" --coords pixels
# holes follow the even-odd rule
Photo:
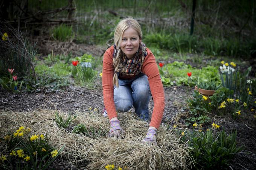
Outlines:
[[[113,53],[114,48],[111,46],[104,54],[102,67],[103,100],[109,119],[117,117],[114,104],[114,85],[112,82],[114,76]]]

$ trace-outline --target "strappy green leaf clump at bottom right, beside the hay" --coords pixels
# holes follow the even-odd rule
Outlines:
[[[215,124],[212,124],[213,126]],[[183,141],[191,147],[190,154],[195,160],[192,169],[222,169],[235,154],[242,150],[236,146],[236,131],[226,134],[209,128],[208,131],[187,131],[182,135]]]

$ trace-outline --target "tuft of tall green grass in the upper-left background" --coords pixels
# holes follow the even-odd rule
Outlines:
[[[73,36],[73,27],[67,26],[65,24],[61,24],[58,27],[54,27],[52,30],[52,37],[55,40],[66,41],[67,39],[70,39]]]

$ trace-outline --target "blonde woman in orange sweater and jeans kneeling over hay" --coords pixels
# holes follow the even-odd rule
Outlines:
[[[126,112],[134,106],[136,114],[148,120],[148,103],[152,94],[154,109],[144,140],[157,144],[165,96],[155,57],[142,42],[139,23],[131,17],[117,24],[114,43],[104,54],[102,69],[103,115],[110,119],[108,137],[120,139],[123,134],[116,110]]]

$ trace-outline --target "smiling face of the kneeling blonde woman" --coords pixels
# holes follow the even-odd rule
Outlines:
[[[120,43],[121,50],[128,59],[132,59],[139,49],[141,39],[136,30],[128,28],[123,32],[122,41]]]

